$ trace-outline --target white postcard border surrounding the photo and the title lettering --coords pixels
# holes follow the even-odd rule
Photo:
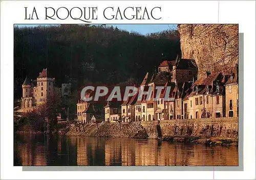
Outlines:
[[[26,21],[23,7],[45,6],[161,6],[162,19],[104,21],[94,23],[239,23],[244,33],[244,171],[116,171],[109,172],[28,172],[13,167],[13,24],[77,23],[74,21]],[[219,15],[218,15],[219,6]],[[100,9],[99,9],[100,11]],[[1,179],[253,179],[255,178],[255,1],[1,1]]]

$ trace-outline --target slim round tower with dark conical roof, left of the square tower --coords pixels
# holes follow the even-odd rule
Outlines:
[[[22,108],[29,108],[33,106],[33,97],[31,93],[31,81],[27,77],[22,85]]]

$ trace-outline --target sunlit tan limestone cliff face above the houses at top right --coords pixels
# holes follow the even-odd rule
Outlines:
[[[238,63],[238,24],[178,24],[182,58],[194,59],[198,79],[206,71],[230,73]]]

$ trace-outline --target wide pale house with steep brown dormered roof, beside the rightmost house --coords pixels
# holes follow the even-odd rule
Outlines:
[[[186,119],[225,117],[223,78],[220,72],[207,72],[205,78],[196,81],[186,90],[184,97]]]

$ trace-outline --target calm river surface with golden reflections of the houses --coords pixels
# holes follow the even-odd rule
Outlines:
[[[158,140],[15,135],[15,166],[238,166],[238,147]]]

